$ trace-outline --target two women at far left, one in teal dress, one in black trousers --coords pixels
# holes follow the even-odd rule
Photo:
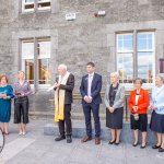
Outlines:
[[[28,124],[28,95],[31,85],[25,80],[25,73],[20,71],[14,85],[8,84],[5,74],[0,77],[0,128],[4,134],[9,134],[9,121],[11,118],[11,99],[14,98],[14,124],[17,124],[19,134],[26,133]]]

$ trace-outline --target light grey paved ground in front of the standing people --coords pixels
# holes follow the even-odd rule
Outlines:
[[[11,133],[7,137],[0,164],[163,164],[164,153],[159,153],[148,145],[141,150],[130,143],[109,145],[102,141],[95,145],[94,140],[82,144],[73,139],[71,144],[55,142],[52,136],[44,136],[43,127],[47,119],[33,120],[28,132],[20,137],[16,126],[10,125]]]

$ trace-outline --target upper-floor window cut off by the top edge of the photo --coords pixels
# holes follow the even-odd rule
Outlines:
[[[22,0],[22,12],[50,10],[50,0]]]

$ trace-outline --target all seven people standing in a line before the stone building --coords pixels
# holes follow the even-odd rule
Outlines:
[[[92,140],[91,113],[94,118],[95,144],[101,143],[99,105],[102,103],[102,75],[95,73],[95,65],[86,65],[86,75],[82,78],[80,93],[85,118],[86,136],[81,142]],[[71,104],[73,102],[74,75],[67,70],[66,65],[59,65],[58,78],[54,84],[55,90],[55,121],[59,126],[59,136],[55,141],[67,139],[72,142]],[[104,104],[106,106],[106,126],[110,129],[109,144],[120,143],[122,129],[125,86],[119,83],[117,72],[110,73],[110,83],[106,86]],[[130,125],[133,130],[133,147],[139,144],[139,130],[142,134],[141,149],[147,147],[148,113],[151,112],[150,128],[157,134],[157,143],[153,149],[164,152],[164,78],[157,74],[151,98],[148,91],[142,87],[142,80],[137,78],[134,90],[129,97]],[[28,124],[28,95],[32,93],[25,73],[20,71],[13,86],[8,84],[7,75],[0,77],[0,127],[4,134],[9,134],[11,117],[11,99],[14,98],[14,124],[17,124],[19,134],[26,133]],[[66,126],[66,128],[65,128]]]

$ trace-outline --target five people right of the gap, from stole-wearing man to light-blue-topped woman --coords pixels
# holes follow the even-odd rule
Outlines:
[[[60,134],[55,139],[67,143],[72,142],[71,104],[74,87],[74,75],[67,70],[66,65],[58,67],[59,78],[54,85],[55,90],[55,121],[59,125]],[[92,140],[91,113],[94,118],[95,144],[101,143],[99,104],[102,103],[102,75],[95,73],[95,65],[86,65],[86,75],[82,78],[80,93],[85,118],[86,136],[81,142]],[[106,87],[104,104],[106,106],[106,126],[110,129],[109,144],[120,143],[122,129],[125,86],[119,83],[117,72],[110,73],[110,83]],[[150,128],[157,133],[157,143],[153,149],[164,152],[164,78],[157,74],[151,98],[148,91],[142,87],[143,81],[137,78],[133,81],[134,90],[129,97],[130,125],[133,130],[133,147],[139,144],[139,130],[142,133],[141,149],[147,147],[148,113],[151,112]],[[66,125],[66,130],[65,130]]]

